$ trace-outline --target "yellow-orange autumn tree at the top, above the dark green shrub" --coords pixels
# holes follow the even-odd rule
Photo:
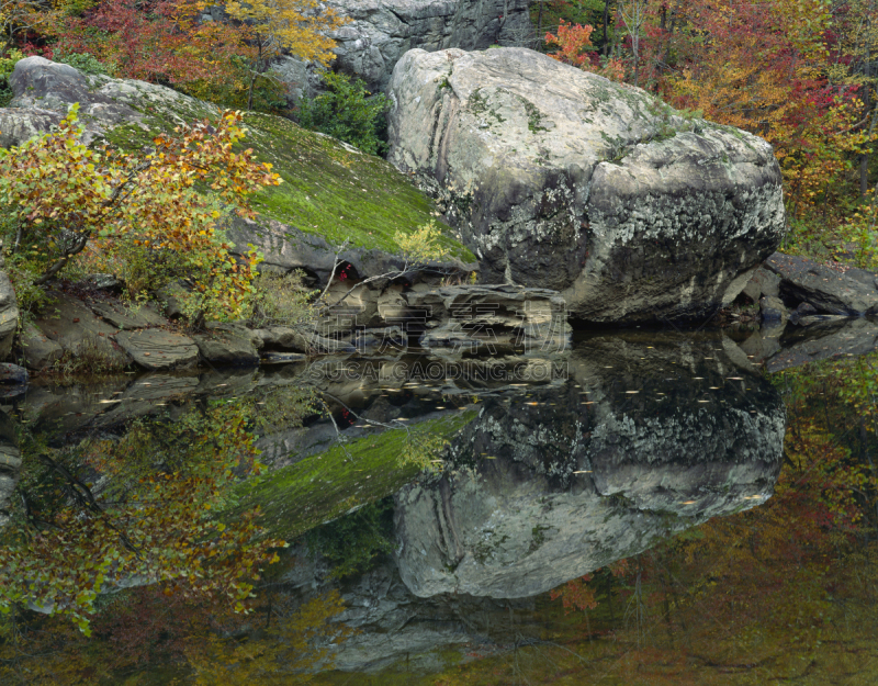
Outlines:
[[[327,66],[335,57],[335,41],[327,34],[345,23],[317,0],[232,0],[226,13],[240,22],[246,40],[256,48],[250,64],[247,109],[252,109],[252,87],[271,59],[289,52],[300,59]]]

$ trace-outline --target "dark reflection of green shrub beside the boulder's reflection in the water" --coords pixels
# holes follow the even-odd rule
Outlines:
[[[364,505],[356,513],[305,535],[308,553],[333,563],[331,578],[369,571],[372,562],[393,550],[393,498]]]

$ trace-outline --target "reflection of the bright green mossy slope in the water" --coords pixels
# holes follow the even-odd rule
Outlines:
[[[475,416],[470,411],[415,426],[450,437]],[[399,464],[405,440],[404,430],[386,430],[248,479],[236,488],[237,505],[226,517],[259,506],[262,522],[272,536],[299,538],[356,507],[393,494],[414,479],[418,469]]]

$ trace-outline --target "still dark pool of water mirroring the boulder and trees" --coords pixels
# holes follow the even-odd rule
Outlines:
[[[875,340],[33,383],[0,679],[876,683]]]

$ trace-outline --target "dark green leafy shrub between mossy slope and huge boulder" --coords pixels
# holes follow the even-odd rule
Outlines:
[[[382,154],[387,144],[382,139],[386,126],[384,113],[390,101],[383,93],[370,95],[361,79],[327,71],[328,91],[313,100],[303,99],[299,121],[305,128],[319,131],[350,143],[363,153]]]

